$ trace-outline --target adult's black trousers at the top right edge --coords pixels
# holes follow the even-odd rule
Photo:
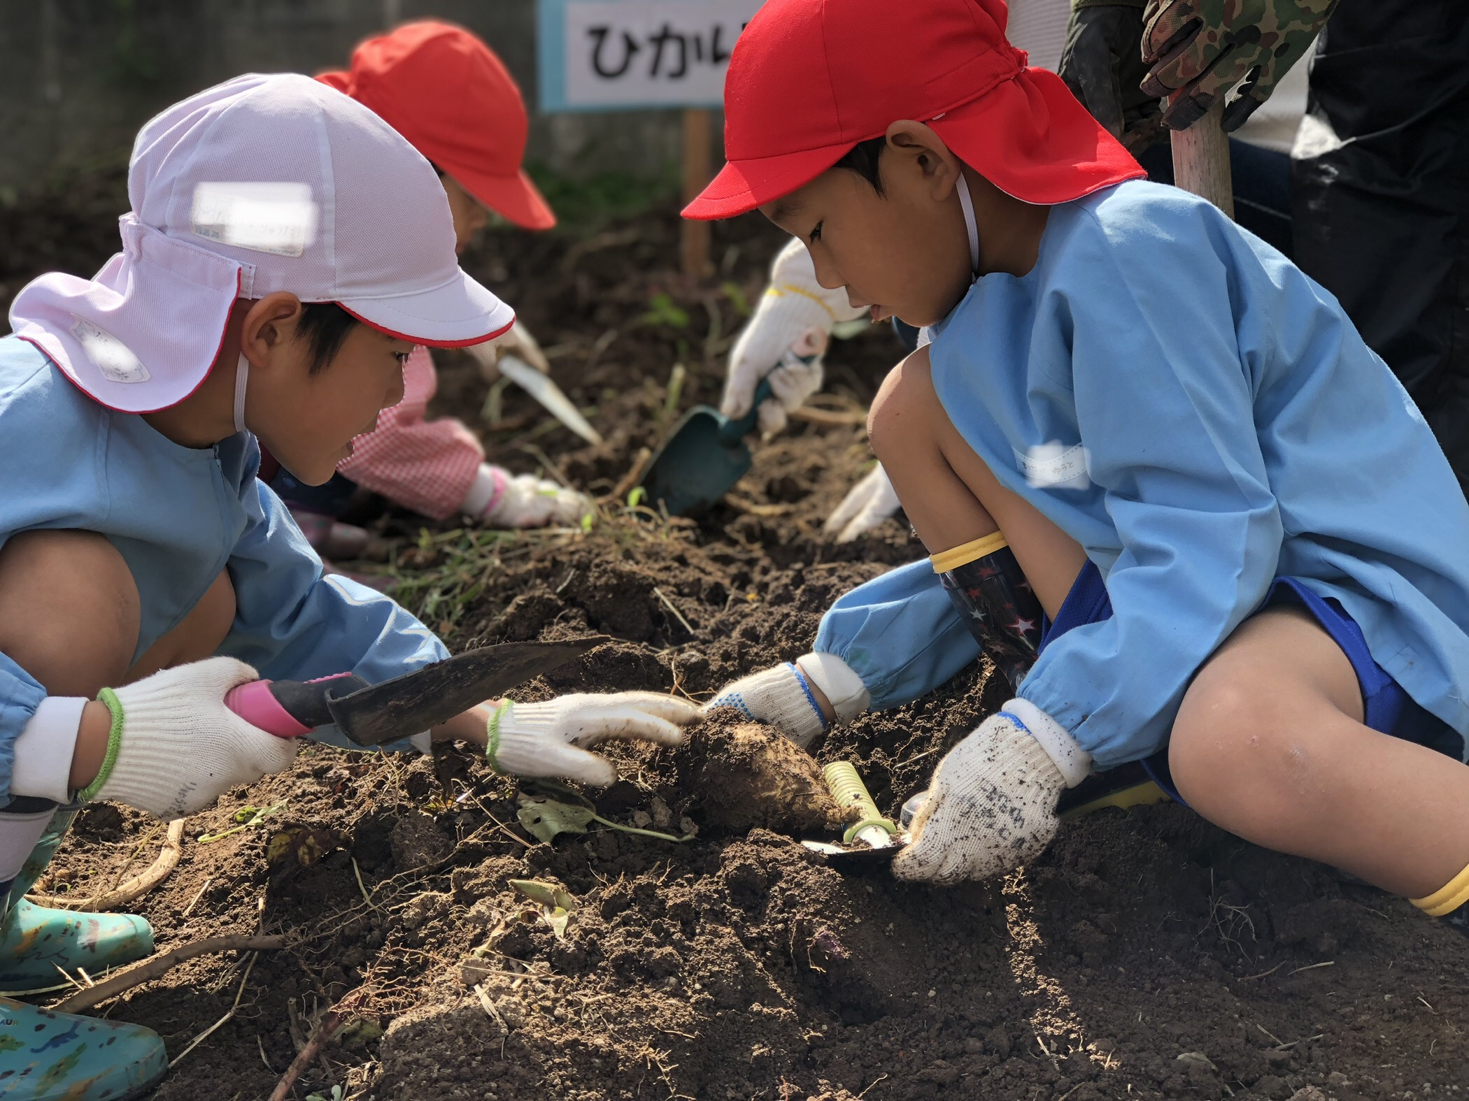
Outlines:
[[[1341,0],[1307,115],[1294,260],[1403,382],[1469,489],[1469,0]]]

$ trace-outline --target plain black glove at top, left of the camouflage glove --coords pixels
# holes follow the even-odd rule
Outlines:
[[[1141,90],[1143,3],[1077,0],[1061,54],[1071,94],[1134,156],[1163,135],[1162,103]]]

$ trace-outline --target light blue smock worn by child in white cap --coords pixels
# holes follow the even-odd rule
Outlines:
[[[0,338],[0,546],[32,528],[106,536],[138,586],[134,658],[225,568],[237,612],[219,652],[261,677],[355,672],[378,683],[447,658],[444,643],[389,597],[322,575],[322,559],[256,479],[259,467],[254,436],[181,446],[142,417],[94,402],[34,345]],[[9,802],[15,740],[44,697],[0,653],[0,804]],[[313,737],[353,746],[332,727]]]

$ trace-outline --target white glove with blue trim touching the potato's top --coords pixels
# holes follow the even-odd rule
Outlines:
[[[871,703],[862,678],[845,661],[834,653],[806,653],[724,686],[704,711],[734,708],[755,722],[776,727],[805,749],[827,727],[811,686],[831,703],[837,722],[851,721]]]

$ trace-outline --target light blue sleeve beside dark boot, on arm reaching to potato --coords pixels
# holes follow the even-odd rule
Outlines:
[[[821,617],[815,649],[852,666],[874,711],[925,696],[980,656],[927,561],[845,593]]]

